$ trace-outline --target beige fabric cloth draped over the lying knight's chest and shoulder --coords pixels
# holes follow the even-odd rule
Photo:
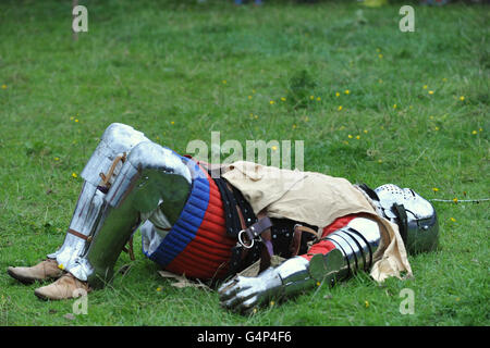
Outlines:
[[[222,175],[248,200],[254,212],[286,217],[322,228],[335,219],[364,213],[378,222],[381,243],[375,254],[371,276],[382,282],[389,276],[412,276],[399,227],[381,217],[367,196],[347,179],[314,172],[281,170],[238,161],[226,164]]]

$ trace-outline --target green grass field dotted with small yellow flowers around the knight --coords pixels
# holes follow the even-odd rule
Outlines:
[[[0,3],[0,325],[490,324],[489,202],[462,202],[490,197],[488,7],[414,4],[416,30],[401,33],[401,4],[79,3],[88,33],[76,41],[71,1]],[[411,257],[413,279],[359,274],[252,316],[122,254],[128,273],[66,319],[72,300],[40,301],[39,285],[5,270],[62,243],[112,122],[181,153],[211,130],[304,140],[305,170],[450,200],[433,202],[440,248]],[[399,310],[404,288],[414,314]]]

